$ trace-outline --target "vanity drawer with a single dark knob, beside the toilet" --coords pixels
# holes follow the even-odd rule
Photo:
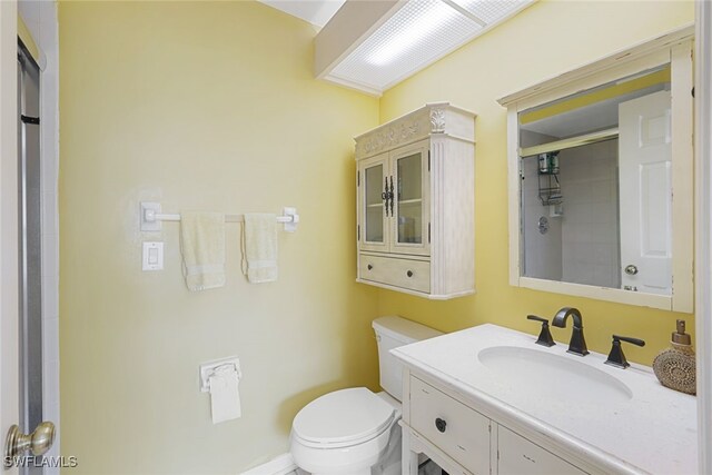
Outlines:
[[[490,419],[413,376],[411,426],[475,475],[490,473]]]

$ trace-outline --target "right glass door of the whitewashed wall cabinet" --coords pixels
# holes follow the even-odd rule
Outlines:
[[[416,144],[392,155],[394,168],[394,251],[427,254],[427,145]]]

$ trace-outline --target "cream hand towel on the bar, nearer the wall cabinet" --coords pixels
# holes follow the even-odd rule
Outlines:
[[[277,280],[277,215],[245,215],[243,273],[253,284]]]

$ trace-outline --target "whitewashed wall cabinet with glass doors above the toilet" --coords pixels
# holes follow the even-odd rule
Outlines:
[[[475,115],[431,103],[356,138],[357,280],[474,291]]]

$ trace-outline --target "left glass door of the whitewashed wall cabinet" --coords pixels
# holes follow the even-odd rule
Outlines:
[[[360,179],[360,241],[364,250],[387,250],[388,227],[386,226],[387,157],[378,156],[364,160],[359,167]]]

